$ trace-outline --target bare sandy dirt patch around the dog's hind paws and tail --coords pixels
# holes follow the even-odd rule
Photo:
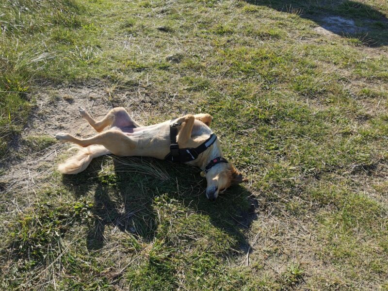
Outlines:
[[[6,211],[15,211],[19,206],[35,201],[35,189],[50,177],[58,155],[68,146],[54,142],[39,151],[31,151],[23,140],[42,136],[49,139],[57,132],[69,132],[82,137],[95,134],[94,129],[81,118],[78,109],[83,107],[98,119],[112,108],[108,98],[102,88],[77,87],[49,88],[35,97],[36,106],[19,138],[19,146],[15,148],[19,159],[9,162],[4,167],[9,170],[0,177],[0,192],[6,201]],[[15,192],[19,191],[23,191],[24,195],[16,201]]]

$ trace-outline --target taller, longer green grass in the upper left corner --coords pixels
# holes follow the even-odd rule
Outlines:
[[[80,8],[71,0],[2,0],[0,5],[0,156],[5,156],[27,121],[35,81],[55,58],[55,49],[46,44],[52,27],[74,29],[81,22]]]

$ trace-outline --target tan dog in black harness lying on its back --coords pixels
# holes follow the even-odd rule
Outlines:
[[[55,134],[61,142],[75,143],[79,152],[58,166],[63,174],[78,174],[99,156],[142,156],[185,162],[202,169],[206,177],[206,196],[215,200],[229,186],[246,181],[242,174],[222,157],[220,143],[210,129],[210,114],[187,114],[146,127],[140,126],[122,108],[113,108],[100,121],[80,108],[81,116],[98,134],[77,138],[68,133]],[[106,127],[110,128],[102,131]]]

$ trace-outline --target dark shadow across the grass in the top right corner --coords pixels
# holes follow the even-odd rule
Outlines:
[[[358,38],[363,45],[388,45],[388,18],[372,6],[350,0],[245,0],[316,22],[326,31]],[[292,29],[292,27],[290,27]]]

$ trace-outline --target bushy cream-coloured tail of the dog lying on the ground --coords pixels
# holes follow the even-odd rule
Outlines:
[[[62,174],[78,174],[85,170],[94,158],[111,153],[104,146],[100,145],[87,147],[73,146],[69,150],[72,149],[78,149],[78,153],[58,166],[58,170]]]

